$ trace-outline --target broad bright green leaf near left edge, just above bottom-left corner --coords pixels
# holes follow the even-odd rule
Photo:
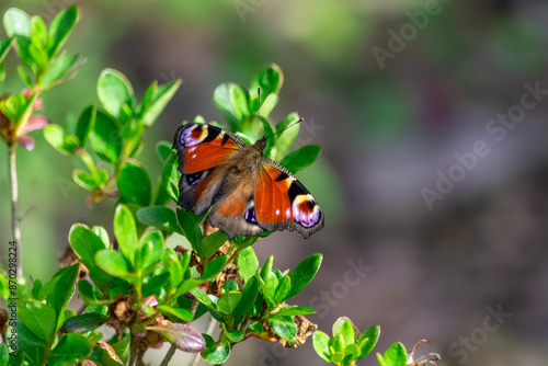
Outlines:
[[[18,304],[18,317],[38,339],[52,342],[57,325],[57,317],[49,305],[35,301]]]

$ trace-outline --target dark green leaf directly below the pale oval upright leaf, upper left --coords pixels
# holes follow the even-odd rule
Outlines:
[[[122,137],[116,123],[102,111],[96,111],[95,125],[90,135],[91,148],[104,161],[115,163],[122,153]]]

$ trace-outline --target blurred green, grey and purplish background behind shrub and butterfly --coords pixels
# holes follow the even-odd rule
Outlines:
[[[64,124],[99,105],[95,83],[106,67],[124,72],[138,95],[152,80],[184,79],[147,133],[140,158],[152,175],[160,171],[153,145],[171,140],[183,119],[222,121],[217,84],[248,87],[269,64],[281,66],[272,119],[298,112],[306,119],[298,144],[323,148],[298,176],[323,207],[326,228],[308,240],[276,233],[255,250],[261,261],[274,254],[282,270],[324,253],[316,279],[294,299],[319,310],[310,319],[320,329],[330,333],[339,316],[359,329],[379,324],[380,352],[429,339],[416,354],[438,352],[438,365],[547,363],[546,1],[2,0],[0,10],[19,7],[48,22],[72,4],[81,16],[67,49],[87,64],[44,96],[45,114]],[[20,90],[8,72],[8,91]],[[534,107],[520,110],[525,84],[540,91]],[[491,122],[507,113],[518,122]],[[23,261],[26,275],[47,278],[70,226],[110,228],[113,202],[85,207],[83,190],[69,183],[73,162],[33,136],[35,150],[19,153]],[[489,153],[429,207],[424,188],[436,190],[438,171],[458,175],[455,153],[477,141]],[[2,248],[7,165],[2,153]],[[503,317],[491,314],[498,309]],[[161,354],[146,359],[159,364],[155,357]],[[285,351],[259,340],[238,345],[226,363],[323,364],[311,341]],[[373,355],[359,362],[376,364]]]

